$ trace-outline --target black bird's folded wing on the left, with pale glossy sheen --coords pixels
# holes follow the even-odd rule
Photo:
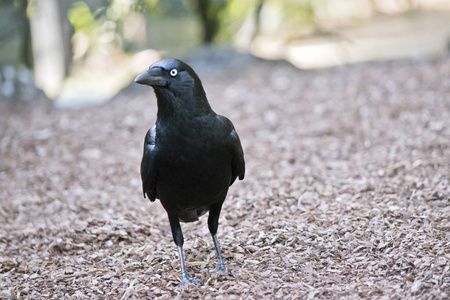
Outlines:
[[[142,191],[150,199],[155,201],[156,199],[156,125],[150,128],[145,135],[144,140],[144,155],[141,162],[141,179],[142,179]]]

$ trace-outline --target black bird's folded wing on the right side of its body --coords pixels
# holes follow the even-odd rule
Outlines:
[[[239,180],[244,179],[245,176],[245,160],[244,151],[242,150],[241,140],[234,129],[233,123],[226,117],[217,115],[216,118],[227,127],[229,135],[231,137],[231,149],[232,149],[232,160],[231,160],[231,181],[230,185],[234,183],[236,178]]]

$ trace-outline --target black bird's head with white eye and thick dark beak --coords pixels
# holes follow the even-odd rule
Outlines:
[[[163,97],[204,97],[202,83],[194,70],[178,59],[163,59],[139,74],[134,82],[153,87]]]

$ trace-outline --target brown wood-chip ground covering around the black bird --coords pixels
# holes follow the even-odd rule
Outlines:
[[[139,164],[150,89],[104,106],[0,112],[0,299],[450,296],[450,57],[203,76],[247,176],[229,192],[215,267],[206,217],[189,272]]]

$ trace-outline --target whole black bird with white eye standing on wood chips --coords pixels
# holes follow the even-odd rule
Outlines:
[[[160,199],[167,211],[180,257],[180,285],[197,285],[200,280],[191,277],[184,265],[180,221],[197,221],[209,211],[216,271],[225,272],[216,233],[228,187],[236,178],[244,179],[241,142],[231,121],[211,109],[200,79],[184,62],[158,61],[135,82],[153,87],[158,104],[156,124],[144,141],[144,197],[152,202]]]

